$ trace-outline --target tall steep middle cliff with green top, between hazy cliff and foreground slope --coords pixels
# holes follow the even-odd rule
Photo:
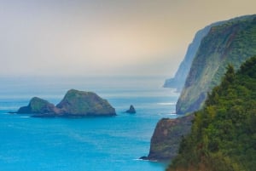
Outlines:
[[[256,14],[212,26],[192,62],[182,93],[177,101],[177,114],[197,111],[207,93],[218,85],[228,64],[235,67],[256,54]]]

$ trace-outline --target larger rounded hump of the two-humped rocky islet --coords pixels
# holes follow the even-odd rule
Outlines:
[[[70,116],[114,116],[115,109],[92,92],[84,92],[75,89],[67,91],[64,99],[56,105],[64,115]]]

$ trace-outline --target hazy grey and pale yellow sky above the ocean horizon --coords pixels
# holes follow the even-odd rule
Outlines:
[[[255,0],[0,0],[0,76],[171,77],[195,32]]]

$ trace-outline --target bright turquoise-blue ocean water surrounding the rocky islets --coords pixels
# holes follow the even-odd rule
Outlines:
[[[156,123],[172,114],[178,94],[162,77],[2,77],[0,171],[158,171],[147,156]],[[107,99],[117,117],[32,118],[8,114],[33,96],[57,104],[70,88]],[[124,113],[134,105],[135,115]]]

